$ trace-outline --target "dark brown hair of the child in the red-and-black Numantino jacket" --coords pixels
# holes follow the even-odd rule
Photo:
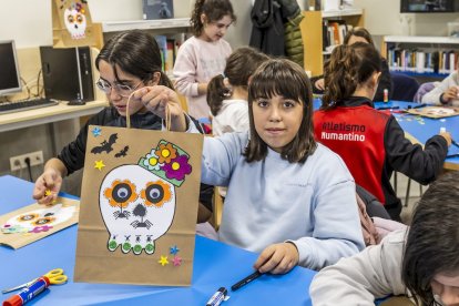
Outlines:
[[[381,71],[381,60],[373,44],[356,42],[338,45],[325,65],[324,81],[327,84],[322,109],[333,109],[350,98],[359,84],[364,84],[374,72]]]

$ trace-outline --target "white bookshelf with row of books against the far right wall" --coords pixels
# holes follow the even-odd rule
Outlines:
[[[438,80],[451,73],[458,62],[459,38],[384,37],[381,53],[389,70],[420,80]]]

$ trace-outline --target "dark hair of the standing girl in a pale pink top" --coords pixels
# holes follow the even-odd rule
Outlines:
[[[227,14],[231,17],[233,22],[236,21],[233,4],[230,0],[196,0],[190,19],[193,34],[195,37],[201,35],[204,29],[204,24],[201,21],[201,14],[205,14],[207,23],[218,21]]]

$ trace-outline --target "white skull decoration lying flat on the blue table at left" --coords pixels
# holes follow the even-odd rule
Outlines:
[[[75,206],[57,204],[34,210],[9,218],[1,227],[2,233],[41,233],[70,220],[76,212]]]

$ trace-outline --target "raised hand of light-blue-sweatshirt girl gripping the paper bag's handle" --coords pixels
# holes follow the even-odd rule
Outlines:
[[[186,131],[185,113],[177,94],[172,89],[163,85],[145,86],[135,91],[132,98],[140,100],[149,111],[163,120],[171,119],[171,122],[166,122],[166,125],[170,124],[172,131]],[[166,109],[169,114],[166,114]]]

